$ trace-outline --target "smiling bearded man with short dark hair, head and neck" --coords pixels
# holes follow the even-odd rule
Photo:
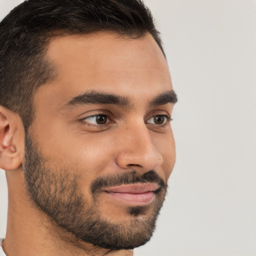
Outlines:
[[[176,100],[141,1],[14,8],[0,23],[0,255],[132,255],[147,242],[175,161]]]

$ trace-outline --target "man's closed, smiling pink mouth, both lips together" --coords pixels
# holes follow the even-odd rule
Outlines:
[[[114,200],[140,206],[151,203],[158,189],[155,183],[136,183],[106,188],[104,192]]]

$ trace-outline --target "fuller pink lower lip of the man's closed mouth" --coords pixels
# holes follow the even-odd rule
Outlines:
[[[120,200],[130,205],[144,205],[151,203],[154,199],[154,192],[148,191],[139,194],[133,193],[120,193],[120,192],[108,192],[106,193],[114,199]]]

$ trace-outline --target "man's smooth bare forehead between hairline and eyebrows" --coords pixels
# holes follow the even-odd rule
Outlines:
[[[167,63],[149,33],[136,39],[110,32],[59,36],[49,43],[47,58],[58,75],[35,97],[46,93],[55,103],[91,89],[131,98],[134,91],[151,98],[171,89]]]

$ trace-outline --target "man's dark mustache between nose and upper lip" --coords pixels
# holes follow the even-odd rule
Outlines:
[[[132,170],[129,172],[97,177],[92,181],[90,191],[92,194],[94,194],[100,191],[103,187],[148,182],[158,184],[159,190],[167,189],[167,183],[164,182],[164,180],[156,173],[155,170],[149,170],[143,174]]]

